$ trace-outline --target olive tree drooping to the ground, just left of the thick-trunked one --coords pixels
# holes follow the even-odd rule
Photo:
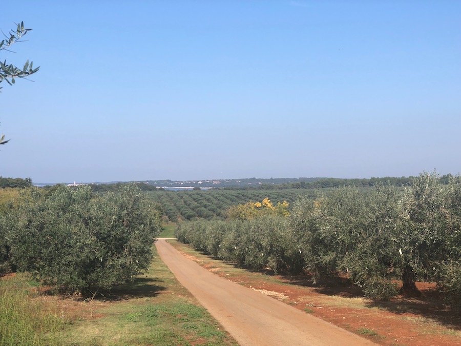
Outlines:
[[[402,193],[393,186],[378,185],[370,192],[348,197],[360,202],[353,202],[355,207],[339,219],[343,225],[339,237],[344,239],[340,269],[363,288],[366,296],[389,299],[397,294],[395,282],[402,276],[395,242],[400,232]]]

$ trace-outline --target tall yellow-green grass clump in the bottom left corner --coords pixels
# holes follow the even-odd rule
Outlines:
[[[26,275],[0,280],[0,345],[56,345],[64,319],[38,299]]]

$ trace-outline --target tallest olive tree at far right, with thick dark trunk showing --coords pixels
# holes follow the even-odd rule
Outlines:
[[[455,256],[459,200],[450,198],[450,189],[456,192],[453,183],[443,185],[435,172],[425,172],[405,190],[394,241],[406,292],[420,295],[417,278],[437,280],[442,263],[459,259]]]

